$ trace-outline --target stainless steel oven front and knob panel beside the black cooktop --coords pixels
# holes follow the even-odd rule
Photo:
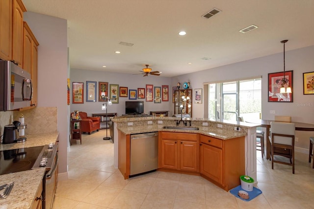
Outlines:
[[[58,175],[58,146],[54,144],[45,145],[39,154],[32,169],[45,167],[43,178],[42,208],[52,209],[57,187]]]

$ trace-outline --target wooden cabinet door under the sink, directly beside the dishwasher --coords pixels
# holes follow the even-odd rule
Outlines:
[[[177,140],[161,140],[161,167],[178,169]]]

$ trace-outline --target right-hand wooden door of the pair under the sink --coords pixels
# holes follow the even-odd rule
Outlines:
[[[180,170],[197,171],[197,142],[180,142]]]

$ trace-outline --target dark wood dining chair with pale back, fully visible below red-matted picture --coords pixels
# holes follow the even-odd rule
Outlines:
[[[274,169],[274,162],[292,165],[292,173],[294,174],[294,135],[295,124],[283,122],[270,122],[271,135],[271,169]],[[275,160],[274,156],[288,157],[290,163]]]

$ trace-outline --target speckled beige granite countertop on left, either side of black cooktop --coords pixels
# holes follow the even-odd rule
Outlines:
[[[27,135],[27,140],[25,142],[1,144],[0,151],[37,147],[55,143],[58,139],[58,135],[58,132],[29,134]],[[30,209],[37,205],[38,200],[40,200],[37,198],[41,195],[42,180],[45,171],[45,168],[38,168],[0,175],[0,185],[14,182],[10,195],[6,199],[0,199],[0,208]]]

